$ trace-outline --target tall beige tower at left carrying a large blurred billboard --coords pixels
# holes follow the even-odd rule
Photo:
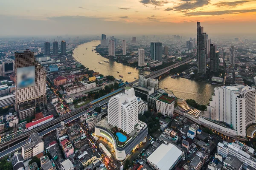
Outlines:
[[[24,120],[34,116],[36,105],[46,104],[46,72],[34,52],[15,53],[15,79],[15,110]]]

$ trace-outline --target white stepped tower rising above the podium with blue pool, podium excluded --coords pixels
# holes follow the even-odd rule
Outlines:
[[[138,121],[138,100],[134,88],[127,86],[125,94],[117,94],[109,100],[108,123],[130,134]]]

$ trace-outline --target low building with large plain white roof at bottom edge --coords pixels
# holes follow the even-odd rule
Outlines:
[[[182,156],[183,152],[174,144],[161,144],[160,147],[148,156],[147,162],[155,170],[172,170],[181,160]]]

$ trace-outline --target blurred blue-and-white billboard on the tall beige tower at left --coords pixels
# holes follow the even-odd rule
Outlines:
[[[35,85],[35,66],[17,68],[17,89]]]

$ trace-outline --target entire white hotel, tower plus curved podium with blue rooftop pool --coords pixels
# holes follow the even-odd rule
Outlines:
[[[117,94],[109,100],[108,117],[96,122],[95,134],[113,144],[116,159],[119,161],[146,142],[148,127],[138,119],[138,110],[134,88],[127,86],[125,94]],[[119,139],[114,135],[119,136]]]

